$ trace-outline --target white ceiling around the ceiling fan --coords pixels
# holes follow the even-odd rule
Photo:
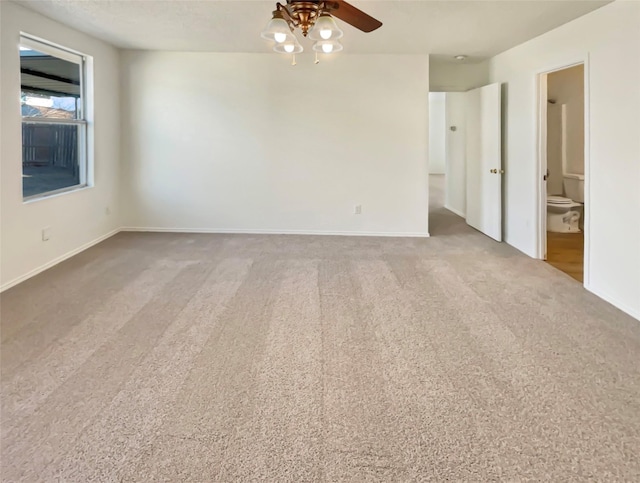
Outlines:
[[[275,1],[16,0],[124,49],[270,52],[259,33]],[[284,1],[284,0],[283,0]],[[345,53],[491,57],[609,1],[376,1],[353,5],[383,22],[369,34],[338,21]],[[307,47],[307,41],[303,41]]]

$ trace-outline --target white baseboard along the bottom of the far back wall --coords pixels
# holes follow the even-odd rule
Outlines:
[[[159,228],[126,226],[120,231],[158,232],[158,233],[220,233],[235,235],[328,235],[328,236],[384,236],[428,238],[429,233],[415,232],[370,232],[370,231],[321,231],[321,230],[244,230],[237,228]]]

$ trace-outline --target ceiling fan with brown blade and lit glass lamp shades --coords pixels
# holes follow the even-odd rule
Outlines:
[[[303,51],[293,34],[299,28],[304,37],[315,40],[316,52],[338,52],[342,50],[338,39],[343,32],[333,17],[363,32],[382,26],[382,22],[344,0],[287,0],[286,5],[276,3],[272,18],[260,35],[274,42],[276,52],[296,54]]]

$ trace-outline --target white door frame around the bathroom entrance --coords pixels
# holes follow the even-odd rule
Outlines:
[[[584,282],[585,287],[589,287],[590,281],[590,253],[589,233],[591,229],[591,152],[590,152],[590,106],[589,106],[589,55],[570,59],[566,62],[556,64],[539,70],[536,73],[536,104],[537,104],[537,156],[536,156],[536,195],[537,195],[537,239],[536,255],[540,260],[545,260],[547,255],[547,183],[544,179],[547,171],[547,77],[553,72],[565,70],[577,65],[584,66],[584,204],[587,207],[583,210],[584,223]]]

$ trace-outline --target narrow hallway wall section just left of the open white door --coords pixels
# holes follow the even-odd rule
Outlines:
[[[467,210],[467,153],[465,93],[446,94],[446,190],[445,208],[462,217]],[[455,131],[451,127],[455,127]]]

